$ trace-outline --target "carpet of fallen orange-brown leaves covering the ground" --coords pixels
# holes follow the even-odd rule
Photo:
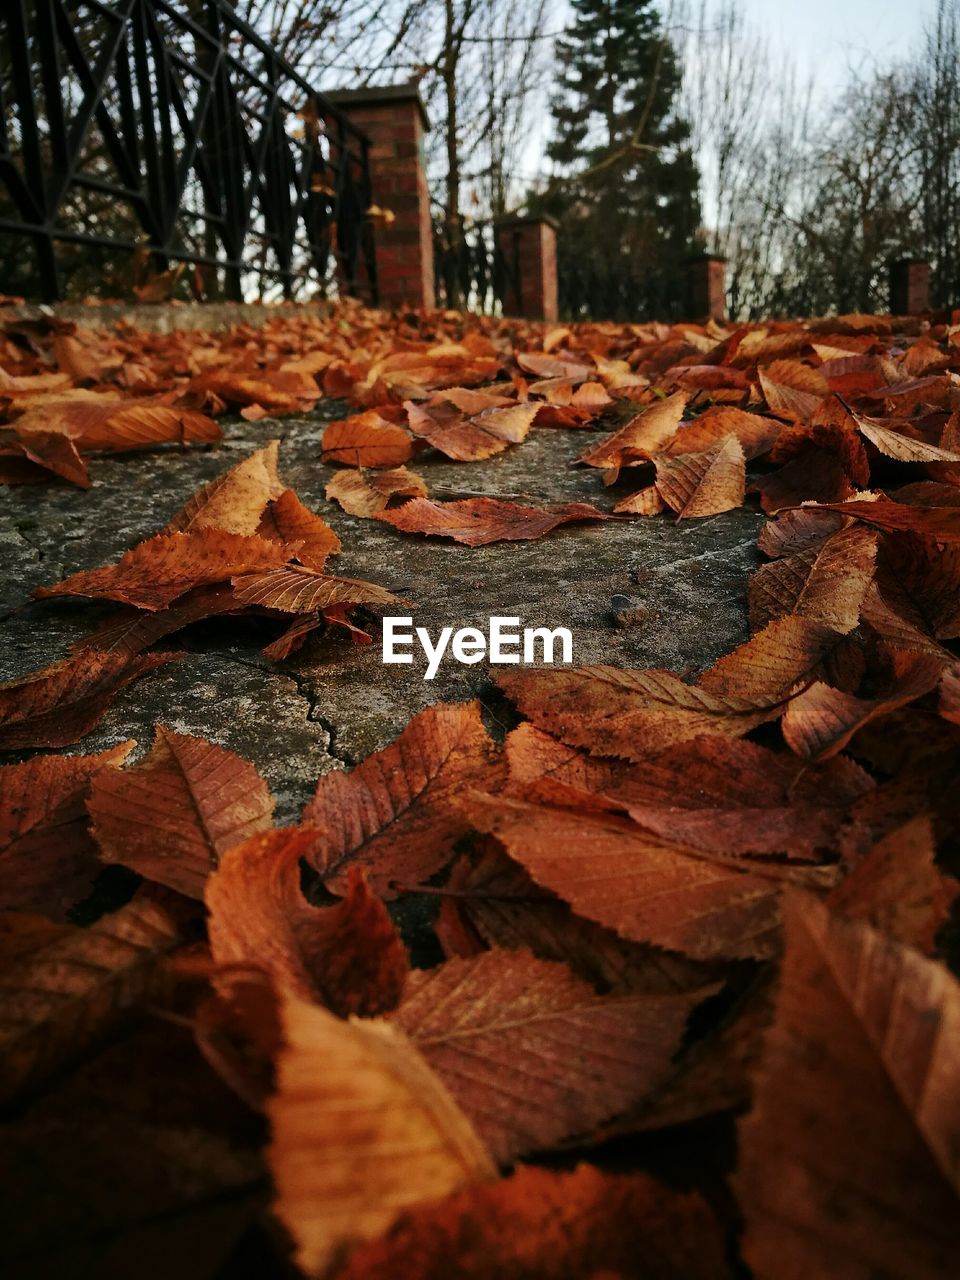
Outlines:
[[[87,452],[329,396],[355,412],[324,433],[328,498],[402,534],[768,518],[751,636],[707,671],[493,671],[483,705],[421,712],[289,828],[255,763],[164,726],[136,763],[38,751],[198,618],[276,618],[276,660],[315,628],[369,640],[390,584],[328,572],[339,541],[275,443],[38,591],[118,608],[0,687],[0,748],[32,753],[0,769],[0,1160],[28,1202],[8,1254],[45,1275],[287,1254],[340,1277],[955,1274],[957,320],[9,324],[9,481],[86,483]],[[407,467],[558,429],[593,433],[611,509],[435,500]]]

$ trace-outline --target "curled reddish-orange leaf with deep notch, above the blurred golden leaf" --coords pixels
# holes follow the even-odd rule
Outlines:
[[[227,851],[205,892],[214,960],[260,966],[340,1018],[389,1012],[403,993],[406,948],[360,868],[337,906],[307,902],[300,864],[317,836],[310,827],[270,831]]]

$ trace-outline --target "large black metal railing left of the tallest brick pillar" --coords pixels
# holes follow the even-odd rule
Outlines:
[[[0,113],[4,292],[376,300],[366,137],[224,0],[1,0]]]

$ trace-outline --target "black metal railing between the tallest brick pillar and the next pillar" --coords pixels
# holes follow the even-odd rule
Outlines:
[[[490,221],[467,221],[456,228],[436,211],[434,216],[434,275],[436,305],[493,315],[503,307],[516,275],[516,257],[504,248]]]

